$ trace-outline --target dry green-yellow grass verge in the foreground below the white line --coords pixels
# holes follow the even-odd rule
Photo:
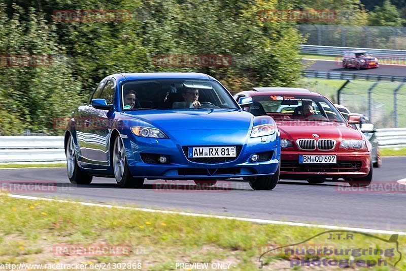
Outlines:
[[[255,270],[259,266],[259,256],[269,249],[303,242],[325,231],[322,228],[263,225],[77,203],[30,201],[6,195],[0,195],[0,206],[0,263],[141,261],[143,270],[168,270],[175,269],[176,262],[227,262],[231,263],[230,269],[233,270]],[[390,237],[377,236],[384,239]],[[324,233],[303,246],[388,247],[382,240],[362,234],[356,234],[351,241],[329,240],[327,237]],[[405,253],[403,244],[406,236],[399,236],[398,241],[401,252]],[[56,256],[52,248],[58,244],[125,245],[130,248],[130,252],[124,256]],[[288,258],[283,253],[267,254],[263,257],[265,269],[289,269]],[[334,255],[312,258],[340,260],[346,257]],[[361,256],[355,259],[370,258]],[[406,268],[405,261],[396,267]]]

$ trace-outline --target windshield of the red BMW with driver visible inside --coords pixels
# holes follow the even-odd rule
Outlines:
[[[324,97],[307,95],[253,96],[250,112],[270,115],[275,121],[346,123],[340,112]]]

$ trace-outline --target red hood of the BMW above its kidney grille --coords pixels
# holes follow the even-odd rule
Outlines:
[[[337,142],[343,139],[362,139],[358,130],[343,123],[332,122],[276,122],[281,132],[281,139],[297,140],[299,138],[315,138],[313,134],[318,134],[318,138],[334,139]]]

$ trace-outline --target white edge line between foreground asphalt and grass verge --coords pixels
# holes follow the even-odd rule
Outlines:
[[[231,219],[231,220],[261,223],[261,224],[289,225],[289,226],[299,226],[299,227],[319,227],[319,228],[336,229],[336,230],[353,230],[353,231],[360,231],[360,232],[366,232],[366,233],[406,235],[406,232],[402,232],[402,231],[390,231],[390,230],[366,229],[366,228],[354,228],[354,227],[340,227],[340,226],[332,226],[332,225],[285,222],[285,221],[278,221],[278,220],[266,220],[266,219],[256,219],[256,218],[227,217],[227,216],[217,216],[217,215],[207,215],[207,214],[197,214],[197,213],[187,213],[187,212],[175,212],[175,211],[170,211],[170,210],[157,210],[157,209],[149,209],[149,208],[115,206],[115,205],[89,203],[89,202],[81,202],[81,201],[58,200],[58,199],[40,198],[40,197],[23,196],[23,195],[15,195],[15,194],[7,194],[7,195],[9,197],[19,198],[19,199],[69,202],[69,203],[77,203],[77,204],[86,205],[86,206],[131,209],[131,210],[138,210],[141,212],[149,212],[149,213],[161,213],[161,214],[172,214],[172,215],[183,215],[183,216],[205,217],[205,218],[218,218],[218,219]]]

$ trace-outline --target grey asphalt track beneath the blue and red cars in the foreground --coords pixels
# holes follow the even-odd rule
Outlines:
[[[385,158],[381,168],[374,168],[373,183],[397,184],[406,178],[406,157]],[[339,191],[347,183],[311,185],[306,181],[281,180],[273,191],[253,191],[248,183],[219,182],[208,191],[196,189],[192,181],[162,186],[162,180],[147,180],[143,189],[120,189],[113,178],[93,178],[91,185],[71,185],[65,168],[1,169],[0,182],[51,182],[56,191],[18,193],[28,196],[58,197],[94,203],[131,203],[138,207],[182,210],[225,216],[320,223],[381,230],[406,230],[403,192],[370,193]],[[161,184],[157,189],[156,184]],[[403,188],[404,187],[404,188]]]

